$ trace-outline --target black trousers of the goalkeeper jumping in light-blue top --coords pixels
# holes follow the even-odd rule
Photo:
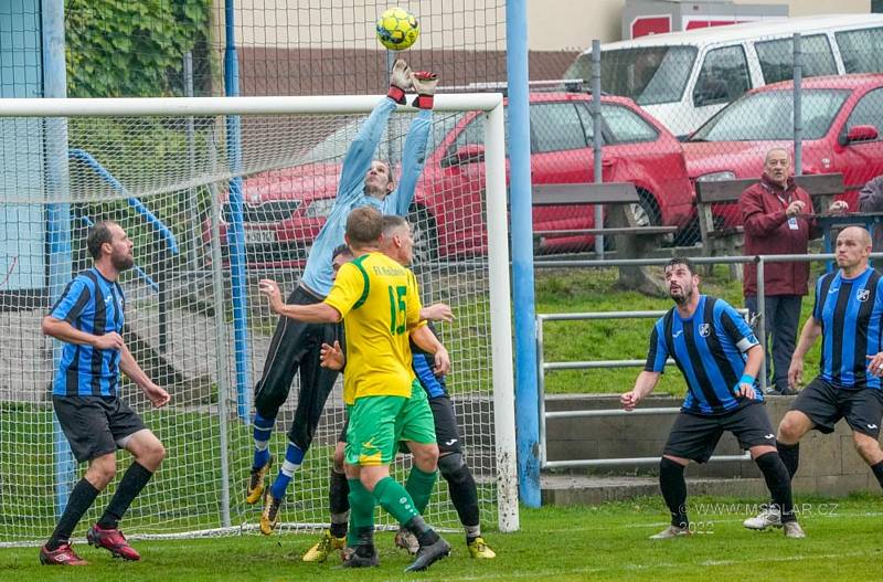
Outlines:
[[[286,303],[312,305],[320,299],[298,286]],[[333,345],[341,337],[340,324],[305,324],[287,317],[279,318],[273,332],[264,372],[255,385],[255,410],[265,419],[275,419],[288,399],[295,374],[300,371],[300,392],[288,438],[301,451],[310,447],[338,378],[336,370],[319,364],[319,350],[322,343]]]

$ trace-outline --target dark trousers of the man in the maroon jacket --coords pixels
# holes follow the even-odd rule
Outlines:
[[[765,299],[766,370],[768,384],[781,392],[788,388],[788,368],[797,341],[802,295],[767,295]],[[745,297],[752,317],[757,314],[757,296]]]

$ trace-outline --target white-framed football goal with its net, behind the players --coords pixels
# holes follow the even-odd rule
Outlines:
[[[276,325],[257,281],[297,284],[334,201],[348,146],[381,97],[4,99],[0,109],[0,543],[52,531],[85,465],[51,404],[60,343],[41,319],[91,266],[88,226],[114,220],[135,243],[124,339],[171,403],[153,410],[128,379],[121,398],[163,442],[166,461],[125,517],[135,536],[255,531],[245,505],[252,394]],[[397,177],[414,110],[394,113],[377,147]],[[408,220],[424,304],[438,326],[482,522],[518,527],[506,177],[499,95],[436,97],[426,167]],[[270,442],[284,457],[296,377]],[[281,508],[280,530],[328,522],[330,457],[343,423],[329,398]],[[93,523],[130,463],[82,520]],[[402,479],[409,459],[395,463]],[[274,475],[275,477],[275,469]],[[439,479],[427,521],[458,528]],[[392,525],[381,515],[379,523]]]

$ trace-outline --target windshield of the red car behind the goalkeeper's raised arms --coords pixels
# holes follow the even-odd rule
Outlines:
[[[445,138],[445,135],[450,131],[464,114],[440,114],[435,115],[433,118],[433,131],[429,134],[429,140],[426,145],[426,151],[432,152],[438,144]],[[383,130],[380,146],[377,147],[376,158],[389,161],[393,167],[402,162],[402,148],[405,144],[405,137],[411,125],[414,114],[395,114],[390,117],[390,121]],[[351,119],[334,131],[326,136],[319,144],[313,146],[304,157],[302,163],[310,162],[341,162],[347,155],[352,140],[355,139],[355,134],[359,128],[368,119],[362,116],[358,119]],[[392,135],[392,139],[389,136]]]

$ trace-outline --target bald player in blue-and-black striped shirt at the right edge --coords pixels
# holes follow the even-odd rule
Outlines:
[[[883,487],[883,285],[868,264],[871,235],[861,226],[843,229],[837,237],[837,272],[816,282],[816,305],[804,325],[788,369],[791,389],[802,384],[804,358],[821,337],[819,375],[800,391],[781,419],[776,435],[779,456],[794,478],[800,438],[811,430],[828,434],[840,419],[852,430],[855,449]],[[780,527],[776,508],[746,519],[748,529]]]

